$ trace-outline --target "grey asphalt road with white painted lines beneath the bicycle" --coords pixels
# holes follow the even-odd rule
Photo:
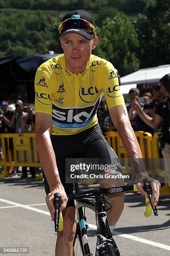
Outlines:
[[[160,196],[158,217],[146,218],[144,210],[142,196],[126,194],[125,208],[113,233],[121,256],[169,256],[170,195]],[[86,216],[88,240],[94,253],[95,214],[87,209]],[[0,179],[0,247],[29,247],[29,254],[25,255],[54,256],[55,241],[56,234],[45,204],[42,182],[19,177]]]

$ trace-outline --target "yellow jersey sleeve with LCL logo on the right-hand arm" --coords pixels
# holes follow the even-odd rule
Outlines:
[[[106,61],[99,79],[100,90],[103,90],[108,108],[124,105],[125,100],[119,89],[119,80],[113,65]]]

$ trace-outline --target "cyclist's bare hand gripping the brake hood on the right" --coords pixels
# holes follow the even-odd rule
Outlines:
[[[137,189],[139,190],[141,195],[144,195],[145,197],[148,197],[147,193],[143,189],[143,183],[137,183]],[[160,190],[160,182],[156,179],[153,179],[151,182],[151,187],[152,187],[152,200],[153,205],[156,206],[159,200],[159,190]],[[150,204],[150,202],[147,202],[147,206]]]

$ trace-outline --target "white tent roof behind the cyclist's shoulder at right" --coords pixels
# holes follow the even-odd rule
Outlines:
[[[139,69],[136,72],[120,78],[123,84],[145,84],[159,82],[160,78],[170,73],[170,65],[161,65],[147,69]]]

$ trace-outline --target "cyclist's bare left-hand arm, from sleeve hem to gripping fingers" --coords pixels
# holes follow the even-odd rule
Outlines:
[[[64,187],[60,181],[55,160],[55,153],[50,140],[52,131],[52,116],[45,113],[35,114],[35,137],[37,151],[40,156],[42,169],[50,187],[50,193],[45,198],[47,207],[50,211],[51,218],[54,220],[55,208],[53,205],[53,198],[55,192],[60,192],[62,205],[60,210],[64,210],[67,204],[67,195]],[[65,170],[63,170],[65,172]]]

